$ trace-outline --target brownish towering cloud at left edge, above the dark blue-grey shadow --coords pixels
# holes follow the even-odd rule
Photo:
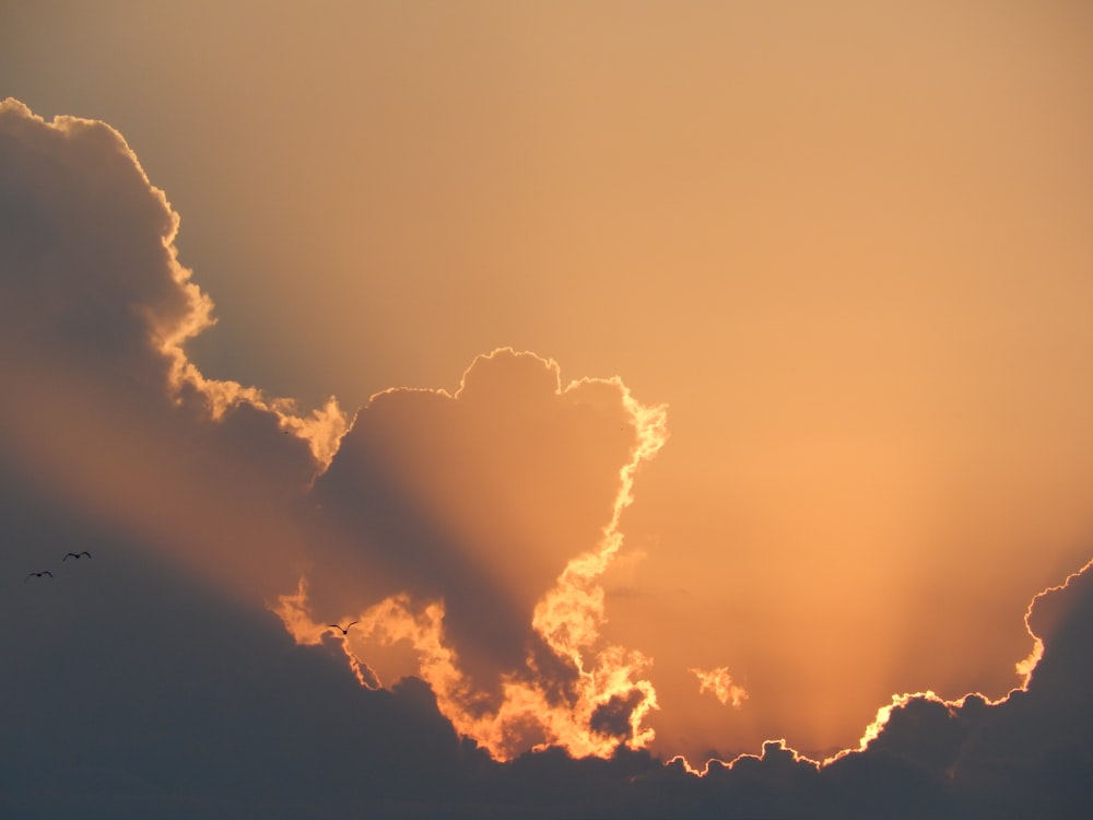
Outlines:
[[[344,429],[336,402],[302,413],[187,360],[212,303],[109,126],[0,104],[0,442],[24,480],[218,583],[291,584],[302,546],[283,511]]]

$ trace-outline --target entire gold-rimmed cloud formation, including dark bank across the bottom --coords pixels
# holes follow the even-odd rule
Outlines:
[[[207,379],[177,224],[108,126],[0,106],[0,813],[1093,810],[1093,565],[1031,604],[1004,699],[894,698],[825,761],[661,762],[599,578],[663,409],[507,350],[352,425]]]

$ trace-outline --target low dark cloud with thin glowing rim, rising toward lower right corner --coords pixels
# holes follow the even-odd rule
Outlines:
[[[1036,596],[1026,622],[1037,660],[1004,698],[895,695],[857,749],[823,761],[784,740],[702,771],[677,758],[637,777],[642,805],[675,817],[1085,817],[1093,562]]]

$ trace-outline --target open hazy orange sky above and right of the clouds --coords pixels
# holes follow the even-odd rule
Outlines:
[[[512,345],[666,405],[602,624],[651,658],[658,753],[827,752],[893,693],[1016,686],[1093,529],[1086,4],[210,8],[0,34],[0,91],[118,128],[180,214],[205,375],[352,414]],[[494,535],[567,514],[506,493]]]

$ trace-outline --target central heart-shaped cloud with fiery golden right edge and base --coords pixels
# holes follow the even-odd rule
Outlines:
[[[599,577],[663,438],[663,409],[618,378],[563,388],[555,362],[510,349],[454,395],[374,396],[315,482],[324,536],[279,611],[303,641],[346,617],[354,637],[409,642],[442,708],[500,757],[645,742],[655,694],[638,654],[599,643]]]

